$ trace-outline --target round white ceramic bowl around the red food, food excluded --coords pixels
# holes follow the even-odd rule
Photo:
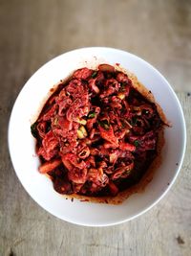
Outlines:
[[[162,164],[144,193],[132,195],[119,205],[66,200],[53,190],[52,181],[37,171],[35,140],[31,134],[34,117],[53,84],[75,69],[98,63],[120,63],[137,75],[151,90],[172,128],[165,129]],[[146,212],[167,193],[180,172],[186,130],[180,102],[168,81],[152,65],[127,52],[104,47],[83,48],[63,54],[43,65],[21,90],[11,112],[9,148],[11,161],[22,185],[44,209],[64,221],[88,226],[106,226],[129,221]],[[177,165],[178,163],[178,165]]]

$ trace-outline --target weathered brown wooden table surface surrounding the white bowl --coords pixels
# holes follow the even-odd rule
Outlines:
[[[124,49],[154,64],[177,91],[187,125],[171,191],[143,216],[112,227],[81,227],[45,212],[21,186],[8,152],[11,108],[25,81],[49,59],[84,46]],[[0,74],[0,255],[191,255],[189,0],[1,0]]]

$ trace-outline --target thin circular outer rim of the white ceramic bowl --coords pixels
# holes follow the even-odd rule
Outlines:
[[[70,55],[72,53],[77,53],[77,52],[81,52],[81,51],[86,51],[86,50],[110,50],[110,51],[115,51],[115,52],[118,52],[118,53],[121,53],[121,54],[128,54],[134,58],[138,58],[138,61],[141,61],[142,63],[144,63],[146,66],[149,66],[151,69],[155,70],[155,72],[158,74],[158,76],[160,77],[160,79],[162,81],[164,81],[167,85],[168,85],[168,88],[169,90],[171,91],[171,93],[173,94],[174,98],[176,99],[176,102],[177,104],[179,105],[179,110],[180,110],[180,116],[182,118],[182,136],[183,136],[183,143],[182,143],[182,147],[181,147],[181,151],[180,151],[180,163],[179,163],[179,166],[176,168],[176,172],[174,173],[172,179],[171,179],[171,182],[169,184],[169,186],[166,187],[166,189],[161,192],[159,198],[157,199],[154,199],[153,202],[149,205],[149,206],[146,206],[143,210],[140,210],[138,212],[138,214],[135,214],[134,216],[132,217],[129,217],[129,218],[126,218],[124,220],[120,220],[120,221],[111,221],[110,223],[105,223],[105,224],[94,224],[93,222],[91,223],[87,223],[87,222],[79,222],[79,221],[71,221],[70,218],[66,218],[65,220],[63,219],[62,216],[60,216],[59,214],[53,212],[52,209],[48,209],[44,206],[42,206],[42,204],[40,204],[36,198],[33,198],[31,193],[28,191],[28,188],[27,186],[25,186],[24,182],[22,181],[22,179],[20,178],[20,175],[19,173],[17,172],[17,168],[15,168],[15,165],[14,165],[14,161],[13,161],[13,155],[12,155],[12,152],[11,152],[11,126],[12,126],[12,116],[14,114],[14,109],[17,105],[17,102],[19,101],[19,96],[22,94],[22,92],[27,88],[26,84],[28,82],[31,81],[32,77],[36,75],[37,72],[39,72],[41,69],[43,69],[46,65],[48,65],[50,62],[54,61],[55,59],[57,58],[60,58],[62,56],[66,56],[66,55]],[[51,213],[54,217],[60,219],[61,221],[68,221],[68,222],[71,222],[71,223],[74,223],[74,224],[77,224],[77,225],[82,225],[82,226],[112,226],[112,225],[116,225],[116,224],[120,224],[120,223],[123,223],[123,222],[126,222],[126,221],[132,221],[136,218],[138,218],[138,216],[141,216],[142,214],[146,213],[147,211],[149,211],[152,207],[154,207],[162,198],[164,198],[164,196],[169,192],[169,190],[172,188],[173,184],[175,183],[175,180],[177,179],[177,176],[180,174],[180,169],[182,167],[182,163],[183,163],[183,159],[184,159],[184,155],[185,155],[185,150],[186,150],[186,139],[187,139],[187,134],[186,134],[186,123],[185,123],[185,118],[184,118],[184,114],[183,114],[183,110],[182,110],[182,107],[180,105],[180,100],[177,96],[177,94],[175,93],[174,89],[172,88],[172,86],[170,85],[170,83],[163,77],[162,74],[160,74],[159,70],[157,68],[155,68],[152,64],[150,64],[149,62],[147,62],[146,60],[144,60],[143,58],[139,58],[137,55],[135,54],[132,54],[132,53],[129,53],[127,51],[124,51],[124,50],[119,50],[119,49],[116,49],[116,48],[111,48],[111,47],[83,47],[83,48],[78,48],[78,49],[74,49],[72,51],[68,51],[68,52],[65,52],[59,56],[56,56],[55,58],[52,58],[50,59],[49,61],[47,61],[46,63],[44,63],[42,66],[40,66],[36,71],[34,71],[32,73],[32,76],[29,78],[28,81],[25,82],[25,84],[23,85],[22,89],[19,91],[19,93],[17,94],[16,96],[16,100],[14,101],[14,104],[12,106],[12,109],[11,109],[11,115],[10,115],[10,121],[9,121],[9,126],[8,126],[8,146],[9,146],[9,152],[10,152],[10,156],[11,156],[11,163],[12,163],[12,166],[13,166],[13,169],[14,169],[14,172],[16,173],[17,175],[17,178],[19,179],[19,181],[21,182],[22,186],[24,187],[24,189],[27,191],[27,193],[30,195],[30,197],[40,206],[42,207],[44,210],[46,210],[47,212]]]

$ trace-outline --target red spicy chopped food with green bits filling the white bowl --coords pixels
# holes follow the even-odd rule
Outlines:
[[[121,202],[159,158],[165,123],[134,75],[109,64],[77,69],[32,124],[39,172],[59,194]]]

